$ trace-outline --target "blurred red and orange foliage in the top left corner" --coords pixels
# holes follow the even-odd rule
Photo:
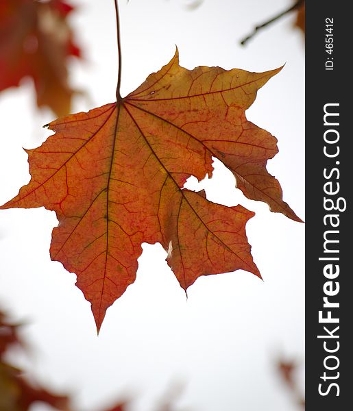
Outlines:
[[[67,58],[80,55],[66,21],[71,10],[61,0],[1,0],[0,91],[32,77],[38,107],[59,116],[70,112]]]

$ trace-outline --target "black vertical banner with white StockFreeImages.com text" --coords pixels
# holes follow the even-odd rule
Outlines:
[[[352,407],[352,18],[306,1],[306,410]]]

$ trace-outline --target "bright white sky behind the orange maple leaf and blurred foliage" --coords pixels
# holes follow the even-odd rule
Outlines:
[[[117,46],[113,0],[71,0],[71,22],[86,62],[72,64],[74,111],[114,101]],[[178,45],[180,64],[266,71],[282,66],[260,91],[247,119],[278,138],[268,163],[284,200],[304,219],[304,42],[294,16],[260,32],[247,47],[239,40],[287,0],[120,1],[125,96],[167,64]],[[0,203],[29,181],[27,155],[50,134],[53,120],[34,108],[32,84],[0,95]],[[241,203],[256,216],[247,223],[261,282],[245,271],[197,279],[188,300],[160,245],[143,245],[136,282],[108,309],[97,338],[90,304],[75,275],[51,262],[53,212],[0,212],[0,305],[28,325],[32,351],[12,360],[42,384],[70,391],[77,410],[97,411],[134,397],[131,411],[153,411],[175,382],[184,390],[175,411],[296,411],[276,371],[278,356],[304,362],[304,224],[295,223],[234,188],[219,162],[200,186],[208,199]],[[189,185],[196,189],[197,184]],[[198,188],[199,189],[199,188]],[[303,386],[304,374],[300,373]],[[33,411],[47,410],[35,406]]]

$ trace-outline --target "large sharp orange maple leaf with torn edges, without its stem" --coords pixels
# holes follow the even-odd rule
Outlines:
[[[27,151],[32,179],[2,208],[56,211],[51,258],[76,273],[98,329],[134,282],[143,242],[169,250],[184,290],[200,275],[243,269],[260,277],[245,234],[254,213],[183,188],[191,175],[212,175],[212,156],[249,199],[300,221],[265,169],[276,138],[245,118],[258,88],[278,71],[188,71],[177,51],[130,95],[53,121],[55,134]]]

